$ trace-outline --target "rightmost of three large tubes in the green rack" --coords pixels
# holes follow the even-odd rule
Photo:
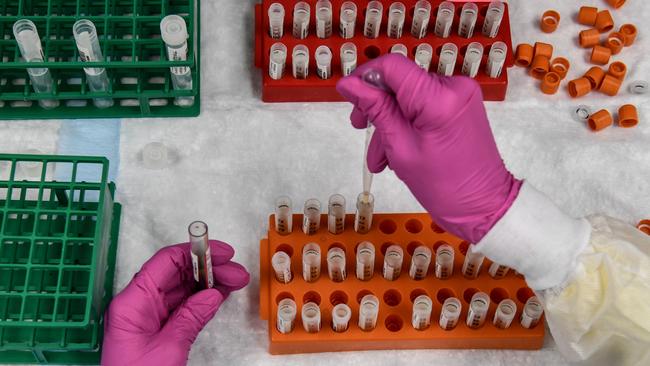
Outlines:
[[[178,15],[168,15],[160,21],[160,35],[167,46],[169,61],[187,61],[187,25]],[[187,66],[169,68],[174,90],[192,90],[192,71]],[[194,105],[194,97],[176,97],[174,103],[180,107]]]

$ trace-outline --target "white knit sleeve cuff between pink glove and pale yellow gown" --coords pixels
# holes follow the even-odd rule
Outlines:
[[[523,274],[532,289],[543,290],[567,280],[590,237],[586,219],[568,216],[524,182],[510,209],[474,249]]]

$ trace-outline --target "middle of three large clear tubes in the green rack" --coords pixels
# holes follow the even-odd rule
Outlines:
[[[72,26],[72,33],[79,51],[79,59],[82,62],[104,61],[102,49],[97,38],[97,29],[93,22],[81,19]],[[106,69],[101,67],[86,67],[86,82],[93,93],[105,93],[110,89],[110,82]],[[113,106],[113,98],[94,98],[93,104],[97,108],[109,108]]]

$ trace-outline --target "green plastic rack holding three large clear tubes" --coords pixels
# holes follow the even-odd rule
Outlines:
[[[167,61],[160,21],[181,16],[189,34],[187,61]],[[29,19],[36,25],[45,62],[22,60],[13,24]],[[79,19],[95,24],[104,62],[78,61],[72,25]],[[200,113],[199,0],[0,0],[0,119],[193,117]],[[174,90],[170,67],[187,66],[192,90]],[[36,94],[27,68],[48,68],[52,94]],[[91,92],[84,67],[107,69],[108,92]],[[194,96],[191,107],[174,104],[176,97]],[[114,105],[99,109],[93,98],[110,97]],[[60,105],[43,109],[39,99]]]

